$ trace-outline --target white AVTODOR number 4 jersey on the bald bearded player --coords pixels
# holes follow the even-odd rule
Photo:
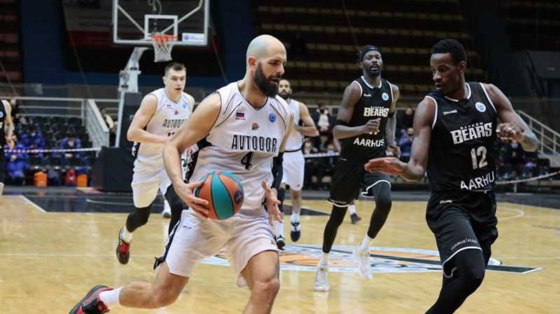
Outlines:
[[[241,95],[237,82],[217,93],[221,111],[209,135],[197,143],[188,181],[199,181],[212,170],[232,172],[245,193],[240,213],[262,214],[261,182],[265,180],[270,186],[274,179],[272,158],[278,155],[288,130],[288,104],[279,96],[268,97],[264,107],[255,109]]]

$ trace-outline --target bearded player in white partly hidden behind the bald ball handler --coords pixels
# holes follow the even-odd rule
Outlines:
[[[283,175],[281,186],[278,189],[278,200],[283,203],[286,193],[286,184],[290,187],[290,198],[292,200],[292,214],[290,215],[290,238],[293,242],[300,240],[300,212],[302,208],[302,187],[305,171],[305,159],[303,158],[304,136],[316,137],[319,135],[315,123],[309,115],[309,109],[303,102],[291,99],[292,88],[288,80],[281,80],[278,84],[278,95],[286,100],[293,111],[293,130],[290,132],[286,142],[286,150],[283,154]],[[302,123],[300,123],[300,121]],[[302,125],[300,125],[302,124]],[[283,204],[280,211],[283,212]],[[283,223],[276,222],[276,245],[282,250],[286,245],[284,239]]]

